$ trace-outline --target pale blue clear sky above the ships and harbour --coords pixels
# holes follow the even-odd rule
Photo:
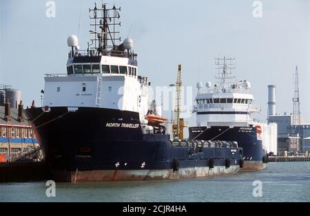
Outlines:
[[[292,112],[298,65],[301,111],[310,119],[310,1],[261,1],[262,18],[252,16],[252,0],[106,2],[121,6],[121,36],[125,39],[132,26],[140,74],[154,86],[174,83],[178,63],[185,86],[214,83],[214,58],[232,55],[237,79],[251,81],[262,106],[259,117],[265,119],[268,84],[277,86],[277,112]],[[65,72],[67,37],[78,34],[80,8],[81,48],[89,39],[88,8],[94,0],[55,0],[55,18],[45,16],[45,3],[0,1],[0,84],[22,90],[26,106],[32,99],[40,104],[45,73]],[[194,118],[188,121],[194,124]]]

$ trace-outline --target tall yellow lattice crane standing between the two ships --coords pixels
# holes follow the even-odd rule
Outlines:
[[[174,124],[172,130],[174,139],[184,139],[184,128],[187,127],[183,118],[180,118],[182,104],[182,65],[178,65],[178,75],[176,77],[176,104],[174,108]]]

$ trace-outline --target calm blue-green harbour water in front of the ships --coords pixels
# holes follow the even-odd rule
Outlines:
[[[254,181],[262,197],[254,197]],[[56,184],[46,197],[45,182],[0,184],[0,202],[310,202],[310,163],[270,163],[266,170],[229,177],[174,181]]]

